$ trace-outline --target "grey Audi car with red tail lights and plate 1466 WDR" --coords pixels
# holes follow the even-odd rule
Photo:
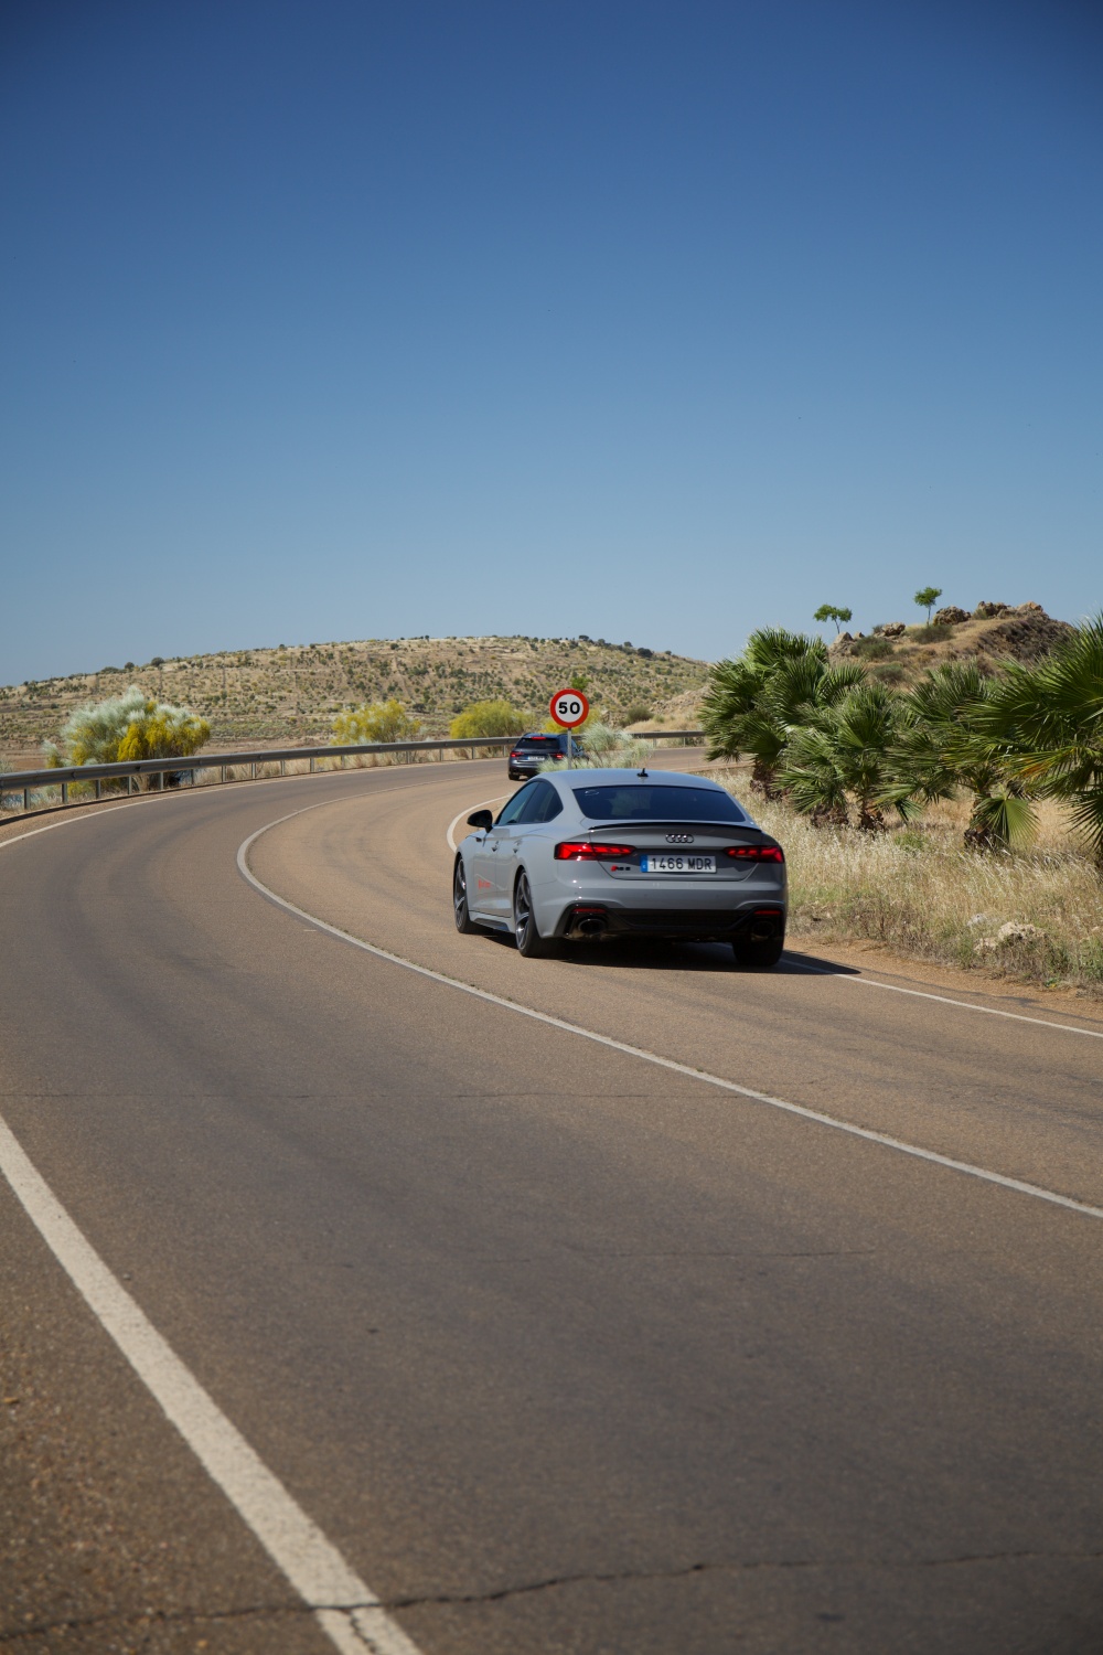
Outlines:
[[[564,770],[473,829],[453,869],[463,933],[524,957],[602,937],[721,938],[766,968],[785,942],[785,856],[726,788],[670,770]]]

